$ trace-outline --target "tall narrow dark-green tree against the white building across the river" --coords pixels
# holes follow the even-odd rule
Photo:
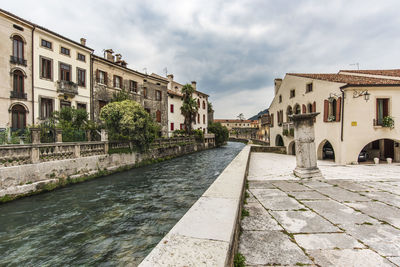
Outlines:
[[[186,133],[192,132],[192,123],[196,121],[197,111],[199,106],[196,100],[193,98],[194,89],[190,84],[185,84],[182,87],[183,103],[181,107],[181,113],[185,117],[185,130]]]

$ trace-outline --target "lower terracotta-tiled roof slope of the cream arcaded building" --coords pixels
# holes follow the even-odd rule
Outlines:
[[[336,73],[287,73],[287,75],[329,82],[345,83],[347,85],[400,85],[399,80]]]

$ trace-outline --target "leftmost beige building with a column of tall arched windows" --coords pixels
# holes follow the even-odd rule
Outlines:
[[[33,26],[0,9],[0,129],[23,130],[32,124]]]

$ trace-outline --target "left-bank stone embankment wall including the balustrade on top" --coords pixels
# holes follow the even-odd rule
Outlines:
[[[214,139],[211,137],[205,142],[196,142],[188,137],[159,140],[142,154],[130,152],[132,144],[129,142],[3,146],[0,147],[0,202],[48,191],[57,187],[57,183],[75,183],[74,180],[82,177],[103,176],[212,147]],[[110,154],[112,150],[115,153]],[[32,158],[37,161],[32,163]]]

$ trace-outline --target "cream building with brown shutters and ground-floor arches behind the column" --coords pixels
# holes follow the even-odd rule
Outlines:
[[[399,101],[400,70],[287,73],[283,80],[275,79],[270,142],[295,154],[289,116],[319,112],[315,120],[318,159],[351,164],[368,154],[367,161],[377,157],[399,162],[400,106],[395,105]]]

